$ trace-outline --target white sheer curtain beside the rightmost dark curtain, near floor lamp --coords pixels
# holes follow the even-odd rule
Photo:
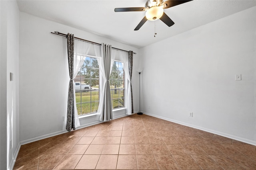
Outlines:
[[[124,100],[124,106],[126,107],[126,114],[131,115],[132,114],[132,93],[131,93],[131,80],[130,80],[130,74],[129,74],[129,66],[128,66],[128,53],[124,51],[118,51],[118,54],[120,55],[121,61],[123,62],[123,68],[124,68],[124,74],[125,77],[128,80],[128,86],[125,90],[125,96],[126,99]]]

